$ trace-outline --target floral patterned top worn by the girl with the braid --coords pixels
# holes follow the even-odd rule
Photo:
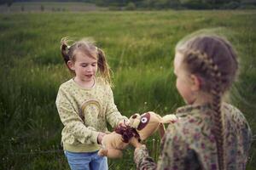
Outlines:
[[[252,132],[241,111],[223,104],[225,169],[246,168]],[[161,142],[158,163],[145,145],[134,152],[137,169],[218,169],[217,147],[209,106],[187,105],[177,109],[178,121],[170,124]]]

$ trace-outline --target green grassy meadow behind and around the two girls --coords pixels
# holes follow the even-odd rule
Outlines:
[[[224,35],[236,47],[240,77],[230,102],[255,132],[256,10],[0,14],[0,169],[68,169],[55,108],[59,86],[72,77],[61,59],[61,37],[93,37],[105,51],[122,114],[165,115],[184,105],[172,72],[175,45],[201,29]],[[159,144],[154,138],[149,148]],[[135,169],[133,150],[124,154],[109,160],[109,169]],[[256,167],[255,154],[254,142],[247,169]]]

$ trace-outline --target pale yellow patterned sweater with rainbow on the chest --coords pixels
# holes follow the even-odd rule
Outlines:
[[[101,78],[92,88],[82,88],[73,79],[59,88],[56,106],[64,128],[61,133],[63,149],[73,152],[99,150],[99,132],[108,132],[112,126],[127,119],[121,116],[113,102],[113,92]]]

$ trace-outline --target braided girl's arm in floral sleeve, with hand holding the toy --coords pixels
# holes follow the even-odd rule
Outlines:
[[[136,147],[134,161],[137,169],[200,169],[200,162],[194,150],[189,150],[188,144],[183,140],[174,125],[170,125],[166,131],[166,136],[161,142],[161,153],[157,165],[148,156],[145,145],[137,144],[131,140],[130,144]]]

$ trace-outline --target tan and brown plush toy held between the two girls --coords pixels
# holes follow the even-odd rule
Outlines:
[[[165,134],[163,123],[176,121],[177,116],[175,115],[161,117],[153,111],[148,111],[142,116],[136,113],[130,117],[128,124],[121,125],[113,133],[104,135],[102,149],[98,151],[98,155],[120,158],[123,156],[122,150],[125,150],[131,138],[145,140],[157,130],[160,131],[160,137],[162,138]]]

